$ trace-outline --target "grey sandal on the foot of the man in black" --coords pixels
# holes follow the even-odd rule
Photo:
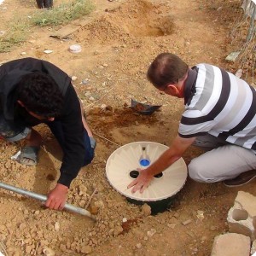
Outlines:
[[[21,148],[17,161],[26,166],[36,166],[38,164],[38,152],[40,147],[26,146]]]

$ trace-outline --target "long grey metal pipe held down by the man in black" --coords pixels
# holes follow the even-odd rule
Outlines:
[[[13,191],[15,193],[19,193],[21,195],[30,196],[34,199],[38,199],[39,201],[46,201],[47,200],[46,195],[40,195],[40,194],[34,193],[32,191],[28,191],[26,189],[20,189],[20,188],[17,188],[15,186],[11,186],[11,185],[6,184],[6,183],[1,183],[0,182],[0,188],[7,189],[7,190]],[[71,212],[76,212],[76,213],[82,214],[84,216],[87,216],[87,217],[92,218],[92,219],[95,220],[95,217],[92,216],[90,212],[84,210],[83,208],[74,207],[73,205],[70,205],[70,204],[67,204],[67,203],[64,205],[64,208],[71,211]]]

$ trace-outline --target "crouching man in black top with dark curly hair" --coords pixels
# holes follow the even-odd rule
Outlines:
[[[61,210],[67,191],[82,166],[94,157],[96,141],[67,73],[48,61],[25,58],[0,67],[0,136],[26,140],[18,160],[36,165],[42,137],[33,126],[49,125],[63,150],[61,176],[45,206]]]

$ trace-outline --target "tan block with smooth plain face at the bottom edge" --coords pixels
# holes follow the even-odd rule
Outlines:
[[[215,236],[211,256],[248,256],[251,241],[248,236],[227,233]]]

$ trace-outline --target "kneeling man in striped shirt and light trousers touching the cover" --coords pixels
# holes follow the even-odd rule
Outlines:
[[[189,164],[199,182],[224,181],[230,187],[256,177],[256,91],[244,80],[209,64],[189,66],[162,53],[148,67],[148,80],[170,96],[184,98],[177,137],[128,188],[143,192],[154,175],[182,157],[191,144],[207,152]]]

